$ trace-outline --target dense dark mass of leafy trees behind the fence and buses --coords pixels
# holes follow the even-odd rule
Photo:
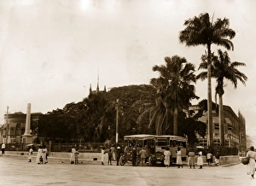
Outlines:
[[[94,92],[82,102],[71,102],[62,109],[44,114],[38,120],[38,136],[44,137],[45,142],[114,142],[117,104],[120,142],[125,135],[155,134],[155,128],[148,127],[149,118],[146,115],[139,119],[155,98],[156,89],[147,84]],[[172,120],[173,116],[169,113],[170,127],[166,129],[166,134],[173,134]],[[188,119],[183,112],[179,113],[178,124],[179,135],[188,137],[191,142],[197,142],[195,133],[202,137],[205,135],[206,126],[198,125],[193,118]]]

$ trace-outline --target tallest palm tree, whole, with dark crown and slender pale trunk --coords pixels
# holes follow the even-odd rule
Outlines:
[[[234,38],[236,32],[230,29],[230,20],[224,18],[215,22],[210,20],[210,16],[201,14],[189,20],[185,20],[186,28],[179,32],[179,41],[187,46],[207,46],[207,110],[208,110],[208,146],[212,146],[212,84],[211,84],[211,46],[217,44],[226,49],[234,49],[230,39]]]

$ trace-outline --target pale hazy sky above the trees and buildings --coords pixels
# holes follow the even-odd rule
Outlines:
[[[26,113],[30,102],[32,113],[47,113],[82,101],[90,84],[96,89],[98,72],[103,89],[149,84],[166,56],[185,57],[197,69],[206,48],[180,44],[178,32],[184,20],[207,12],[228,18],[236,31],[228,52],[247,64],[238,69],[248,80],[236,90],[226,83],[224,105],[240,110],[247,134],[256,136],[255,9],[254,0],[0,0],[0,124],[7,106]],[[212,101],[215,85],[212,79]],[[207,99],[207,82],[195,87]]]

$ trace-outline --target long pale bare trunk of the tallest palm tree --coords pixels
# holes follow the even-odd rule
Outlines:
[[[207,119],[208,119],[208,141],[207,145],[212,146],[213,143],[213,128],[212,128],[212,83],[211,83],[211,64],[212,64],[212,54],[211,54],[211,44],[207,44],[208,54],[207,54],[207,80],[208,80],[208,99],[207,99]]]

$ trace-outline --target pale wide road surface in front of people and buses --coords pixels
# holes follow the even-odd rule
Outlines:
[[[203,169],[150,166],[70,165],[61,160],[37,165],[15,156],[0,156],[0,185],[256,185],[247,166],[205,166]]]

